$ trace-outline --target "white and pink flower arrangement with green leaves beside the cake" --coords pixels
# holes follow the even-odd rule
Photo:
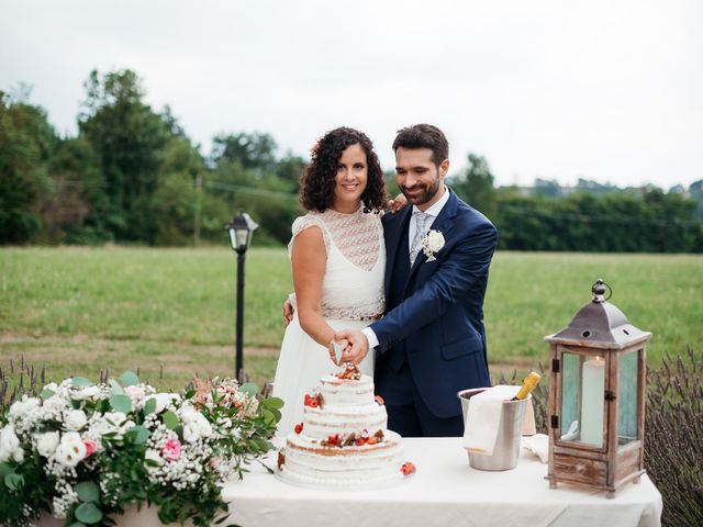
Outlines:
[[[16,401],[0,415],[0,525],[42,512],[113,525],[133,504],[155,505],[165,524],[226,515],[221,484],[272,448],[282,401],[228,379],[194,384],[157,393],[132,372],[104,384],[75,377]]]

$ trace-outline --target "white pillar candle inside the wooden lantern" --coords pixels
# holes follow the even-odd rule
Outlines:
[[[605,361],[601,357],[583,362],[581,384],[581,442],[603,445]]]

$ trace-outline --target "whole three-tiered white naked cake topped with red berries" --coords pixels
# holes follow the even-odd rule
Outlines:
[[[279,476],[308,486],[384,486],[414,472],[403,463],[401,437],[388,430],[388,415],[373,396],[373,380],[348,365],[305,395],[304,421],[279,452]]]

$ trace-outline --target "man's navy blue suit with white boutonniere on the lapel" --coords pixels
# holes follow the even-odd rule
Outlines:
[[[483,298],[498,243],[493,224],[451,192],[432,229],[444,247],[410,267],[412,206],[383,216],[386,316],[371,329],[379,346],[376,391],[388,427],[403,436],[460,436],[459,390],[488,386]]]

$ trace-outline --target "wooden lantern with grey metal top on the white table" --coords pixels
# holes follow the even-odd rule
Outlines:
[[[610,290],[604,298],[605,288]],[[599,279],[593,299],[568,327],[545,340],[551,347],[549,486],[572,483],[607,492],[644,470],[646,347],[651,333],[627,322],[607,302]]]

